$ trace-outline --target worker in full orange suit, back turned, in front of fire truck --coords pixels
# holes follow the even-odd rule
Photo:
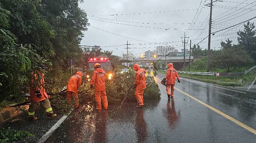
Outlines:
[[[103,69],[100,68],[100,64],[96,63],[93,66],[95,68],[95,71],[93,72],[93,76],[91,77],[91,88],[93,88],[94,85],[94,95],[95,95],[95,101],[96,101],[96,107],[97,110],[101,110],[101,100],[103,103],[104,110],[107,110],[108,104],[107,104],[107,95],[106,95],[106,77],[107,74]]]

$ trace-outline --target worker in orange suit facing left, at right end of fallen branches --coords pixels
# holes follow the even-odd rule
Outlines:
[[[138,64],[133,65],[133,70],[136,71],[135,82],[133,87],[135,88],[135,97],[137,100],[137,108],[142,107],[143,104],[143,93],[146,88],[146,70],[140,68]]]

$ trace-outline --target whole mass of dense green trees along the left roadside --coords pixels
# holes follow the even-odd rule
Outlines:
[[[59,71],[67,72],[69,58],[84,63],[78,45],[89,24],[79,2],[83,1],[0,0],[0,101],[28,92],[39,63],[50,67],[45,73],[52,91],[60,88],[51,82],[61,79]]]

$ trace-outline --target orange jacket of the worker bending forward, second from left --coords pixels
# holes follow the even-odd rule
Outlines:
[[[74,76],[71,76],[68,80],[67,84],[67,91],[72,91],[77,93],[78,88],[81,86],[82,83],[82,72],[78,71]]]

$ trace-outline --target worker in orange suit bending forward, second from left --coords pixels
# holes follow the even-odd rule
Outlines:
[[[72,95],[75,98],[75,108],[79,108],[79,99],[78,99],[78,88],[81,86],[82,83],[82,72],[78,71],[74,76],[71,76],[70,79],[68,80],[68,85],[67,85],[67,100],[69,103],[71,103],[71,98]]]

